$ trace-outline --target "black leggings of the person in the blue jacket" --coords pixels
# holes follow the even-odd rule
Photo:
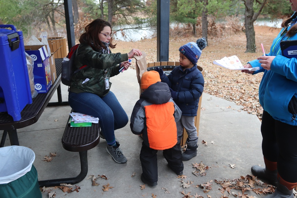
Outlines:
[[[279,175],[287,182],[297,182],[297,126],[275,120],[263,111],[262,124],[263,156],[277,162]]]

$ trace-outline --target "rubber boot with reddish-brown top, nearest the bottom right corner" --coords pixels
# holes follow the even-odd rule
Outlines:
[[[297,183],[290,183],[282,179],[279,175],[277,188],[273,194],[267,195],[266,198],[294,198],[293,189]]]

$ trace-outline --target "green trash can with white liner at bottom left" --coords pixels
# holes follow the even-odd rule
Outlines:
[[[35,153],[23,146],[0,148],[0,197],[41,198]]]

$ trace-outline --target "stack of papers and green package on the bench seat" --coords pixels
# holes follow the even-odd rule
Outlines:
[[[99,118],[95,118],[94,116],[72,112],[70,126],[92,126],[92,123],[98,123]]]

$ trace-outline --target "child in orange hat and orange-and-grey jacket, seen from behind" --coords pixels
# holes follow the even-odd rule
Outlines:
[[[141,180],[149,186],[156,186],[158,150],[163,150],[171,170],[177,175],[183,174],[181,137],[178,137],[176,128],[181,110],[171,99],[169,87],[161,82],[158,72],[144,72],[140,88],[143,93],[133,108],[130,128],[134,134],[143,136],[140,151],[143,171]]]

